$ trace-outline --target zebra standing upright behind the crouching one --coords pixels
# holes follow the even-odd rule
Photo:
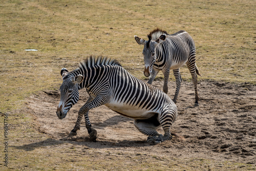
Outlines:
[[[147,35],[148,40],[134,36],[139,45],[144,45],[144,75],[150,77],[152,84],[158,72],[164,74],[163,92],[168,93],[168,79],[170,70],[173,70],[176,79],[176,92],[173,101],[177,102],[181,87],[180,67],[185,63],[192,76],[195,87],[195,106],[198,106],[197,75],[201,75],[196,65],[196,47],[193,38],[184,30],[174,34],[167,34],[159,28]]]

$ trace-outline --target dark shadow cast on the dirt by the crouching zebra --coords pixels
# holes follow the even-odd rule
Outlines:
[[[106,126],[114,126],[119,124],[119,122],[128,122],[131,121],[133,122],[133,119],[123,117],[121,115],[116,115],[113,116],[109,119],[106,119],[103,122],[96,122],[93,123],[93,127],[97,129],[104,129]],[[133,123],[131,123],[133,125]],[[81,126],[85,128],[85,125]],[[87,131],[86,131],[87,132]],[[84,132],[84,133],[86,133]],[[20,146],[11,146],[16,149],[23,149],[25,151],[33,151],[36,148],[39,147],[45,147],[45,146],[56,146],[56,145],[61,145],[64,143],[70,143],[70,144],[76,144],[76,145],[81,145],[81,146],[88,146],[89,148],[120,148],[120,147],[143,147],[143,146],[151,146],[151,144],[148,144],[146,142],[146,139],[143,140],[110,140],[106,141],[103,138],[97,138],[96,142],[92,142],[89,135],[86,134],[78,134],[77,136],[67,136],[65,133],[59,133],[57,137],[63,137],[60,139],[57,138],[48,138],[43,141],[39,142],[34,142],[30,144],[24,144]]]

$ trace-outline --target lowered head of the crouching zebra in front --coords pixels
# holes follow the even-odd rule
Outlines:
[[[82,82],[83,76],[81,74],[74,76],[69,74],[66,68],[60,71],[63,82],[60,86],[60,101],[57,108],[57,116],[59,119],[66,117],[68,111],[79,99],[78,86]]]

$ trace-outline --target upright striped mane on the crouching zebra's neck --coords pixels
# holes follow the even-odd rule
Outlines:
[[[111,59],[105,56],[95,57],[91,55],[86,59],[84,59],[82,62],[80,62],[79,69],[99,66],[99,65],[121,66],[121,64],[116,59]]]

